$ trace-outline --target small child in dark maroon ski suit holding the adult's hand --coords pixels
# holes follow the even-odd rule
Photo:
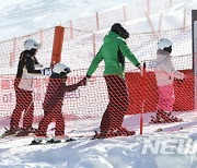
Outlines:
[[[68,73],[70,73],[70,68],[66,64],[56,63],[54,65],[43,104],[44,118],[39,122],[38,130],[36,132],[37,137],[32,142],[32,144],[39,143],[43,139],[46,139],[48,124],[54,119],[56,121],[56,128],[55,139],[53,140],[59,142],[61,139],[65,139],[65,118],[61,112],[65,94],[66,92],[73,92],[79,86],[85,84],[84,81],[81,80],[77,84],[67,86],[66,81]]]

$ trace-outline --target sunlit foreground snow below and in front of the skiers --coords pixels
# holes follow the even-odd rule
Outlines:
[[[187,119],[182,123],[152,125],[147,125],[146,120],[143,135],[139,135],[139,116],[127,117],[125,127],[131,127],[138,134],[130,137],[37,146],[28,146],[33,137],[1,140],[0,167],[196,168],[197,112],[177,116]],[[154,132],[158,128],[163,132]],[[184,129],[173,131],[177,128]]]

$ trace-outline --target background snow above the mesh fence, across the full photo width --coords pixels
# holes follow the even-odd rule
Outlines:
[[[160,3],[158,3],[158,0],[150,1],[150,17],[154,29],[158,31],[159,28],[161,13],[163,14],[161,29],[183,27],[185,4],[187,9],[185,26],[189,26],[190,10],[197,7],[197,2],[193,0],[192,3],[190,0],[187,0],[186,3],[185,0],[173,0],[173,3],[176,2],[178,4],[173,5],[169,12],[165,7],[166,2],[169,3],[167,0]],[[147,22],[144,12],[138,10],[138,8],[143,11],[147,10],[147,0],[2,0],[0,5],[0,41],[38,32],[40,28],[45,29],[56,25],[69,26],[70,20],[74,21],[84,16],[94,16],[95,12],[102,13],[112,9],[121,9],[124,4],[132,7],[131,10],[135,9],[131,13],[128,11],[128,17],[132,16],[132,19],[125,23],[129,25],[130,33],[152,31]],[[116,13],[117,17],[121,14]],[[94,22],[94,20],[91,19],[91,22]],[[105,23],[105,28],[112,25],[111,21]],[[77,29],[95,31],[95,27],[89,22],[84,25],[80,22],[80,25],[77,24],[76,26],[74,28]]]

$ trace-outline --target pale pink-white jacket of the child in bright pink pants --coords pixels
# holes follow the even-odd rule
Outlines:
[[[158,50],[155,59],[155,77],[158,86],[173,85],[174,79],[183,80],[184,73],[174,70],[171,55],[167,51]]]

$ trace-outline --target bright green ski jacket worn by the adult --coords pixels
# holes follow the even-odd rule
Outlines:
[[[108,35],[104,37],[104,44],[94,57],[86,75],[91,76],[97,69],[99,63],[104,60],[105,70],[103,75],[119,75],[124,77],[125,57],[136,67],[140,64],[128,48],[125,39],[111,31]]]

